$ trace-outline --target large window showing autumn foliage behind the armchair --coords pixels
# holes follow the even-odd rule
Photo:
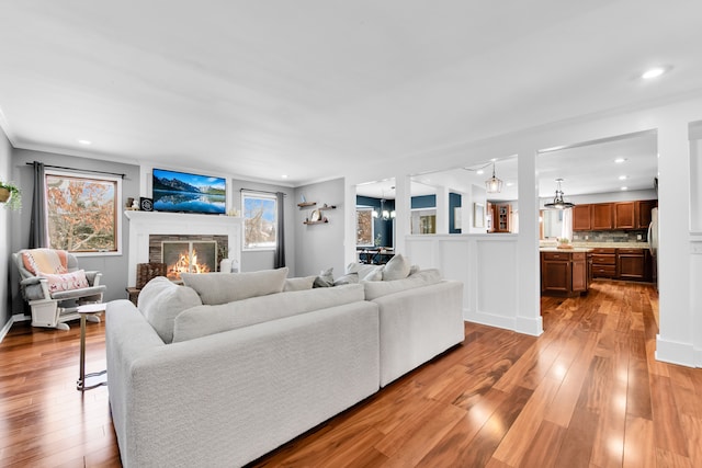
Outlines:
[[[122,180],[46,171],[46,226],[52,249],[120,254]]]

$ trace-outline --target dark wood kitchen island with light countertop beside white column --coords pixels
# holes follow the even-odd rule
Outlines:
[[[591,249],[541,248],[541,294],[574,297],[590,288]]]

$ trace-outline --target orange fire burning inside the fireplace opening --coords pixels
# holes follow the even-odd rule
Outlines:
[[[181,273],[210,273],[217,270],[216,241],[165,241],[161,243],[166,276],[180,281]]]

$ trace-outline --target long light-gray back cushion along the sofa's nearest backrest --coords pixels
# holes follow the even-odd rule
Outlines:
[[[363,286],[294,290],[218,306],[193,307],[176,318],[173,342],[363,300]]]

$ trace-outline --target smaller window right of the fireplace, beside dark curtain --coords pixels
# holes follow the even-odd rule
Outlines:
[[[242,193],[244,250],[275,249],[278,242],[275,195]]]

